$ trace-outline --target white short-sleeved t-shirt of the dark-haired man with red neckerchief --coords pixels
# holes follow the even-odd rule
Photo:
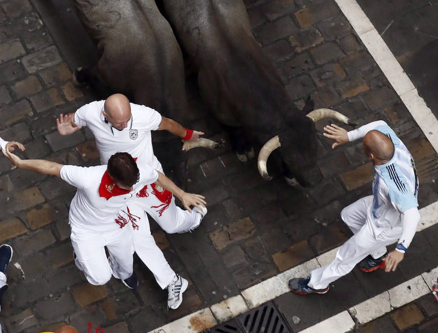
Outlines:
[[[127,207],[128,201],[146,185],[154,183],[158,173],[148,165],[138,166],[139,181],[127,194],[112,196],[108,200],[99,195],[101,179],[107,170],[106,165],[80,167],[64,165],[61,178],[77,188],[70,204],[69,223],[72,228],[90,231],[109,231],[120,228],[115,222],[119,210]]]

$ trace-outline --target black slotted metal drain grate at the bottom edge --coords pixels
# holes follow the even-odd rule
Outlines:
[[[217,325],[208,333],[291,333],[273,302],[259,307],[226,323]]]

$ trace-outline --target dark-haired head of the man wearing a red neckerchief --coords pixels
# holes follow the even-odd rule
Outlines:
[[[108,161],[108,174],[114,183],[124,190],[132,191],[140,172],[134,158],[128,153],[115,153]]]

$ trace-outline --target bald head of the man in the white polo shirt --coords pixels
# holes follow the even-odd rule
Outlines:
[[[131,106],[128,98],[122,94],[111,95],[106,99],[102,113],[113,127],[120,130],[128,127],[131,119]]]

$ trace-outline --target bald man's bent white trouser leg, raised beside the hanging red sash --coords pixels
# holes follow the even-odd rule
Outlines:
[[[188,231],[200,218],[197,212],[192,210],[189,213],[188,210],[182,210],[175,205],[173,195],[170,204],[163,210],[166,204],[155,196],[150,185],[147,185],[146,196],[134,196],[129,200],[129,203],[131,202],[143,208],[167,233]]]

